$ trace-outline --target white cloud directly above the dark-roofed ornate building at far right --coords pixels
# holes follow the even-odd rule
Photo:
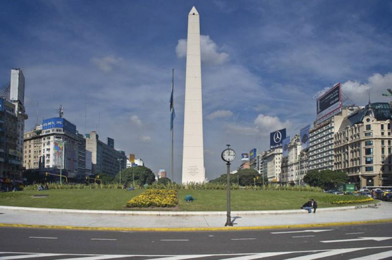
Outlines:
[[[381,96],[387,92],[387,88],[392,86],[392,72],[385,74],[373,74],[368,78],[368,83],[361,83],[358,80],[348,80],[342,84],[342,90],[357,105],[365,105],[368,101],[368,92],[372,102],[387,100]]]

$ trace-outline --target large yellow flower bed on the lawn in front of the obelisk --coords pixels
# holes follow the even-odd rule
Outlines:
[[[127,208],[175,207],[178,203],[177,192],[167,189],[147,189],[126,203]]]

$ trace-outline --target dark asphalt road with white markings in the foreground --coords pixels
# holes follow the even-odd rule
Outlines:
[[[392,259],[391,228],[392,223],[236,232],[0,228],[0,260]]]

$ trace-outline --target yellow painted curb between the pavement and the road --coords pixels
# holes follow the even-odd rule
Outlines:
[[[13,228],[42,228],[42,229],[65,229],[65,230],[96,230],[96,231],[156,231],[156,232],[186,232],[186,231],[246,231],[246,230],[267,230],[267,229],[295,229],[295,228],[318,228],[331,226],[347,226],[362,224],[389,223],[390,219],[365,220],[351,222],[331,222],[319,224],[293,224],[255,227],[221,227],[221,228],[105,228],[105,227],[76,227],[76,226],[55,226],[55,225],[28,225],[28,224],[5,224],[0,223],[0,227]]]

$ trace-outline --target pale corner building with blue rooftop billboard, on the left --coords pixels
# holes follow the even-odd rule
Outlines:
[[[26,170],[68,178],[84,178],[86,153],[84,140],[76,126],[62,117],[44,119],[42,125],[24,134],[24,167]]]

